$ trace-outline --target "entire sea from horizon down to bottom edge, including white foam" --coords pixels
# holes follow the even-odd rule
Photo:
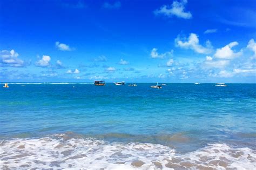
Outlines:
[[[0,169],[256,169],[256,84],[137,85],[1,87]]]

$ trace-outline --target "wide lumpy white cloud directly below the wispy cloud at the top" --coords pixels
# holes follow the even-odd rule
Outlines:
[[[175,42],[176,42],[177,46],[184,48],[184,49],[194,50],[197,53],[207,54],[207,53],[211,53],[211,51],[212,51],[211,42],[208,40],[206,42],[206,47],[200,45],[199,39],[198,39],[198,36],[196,35],[196,33],[190,33],[190,36],[188,38],[185,38],[184,42],[182,40],[180,40],[180,37],[178,36],[175,39]]]

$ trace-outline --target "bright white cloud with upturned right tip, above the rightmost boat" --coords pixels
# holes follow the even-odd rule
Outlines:
[[[232,50],[232,47],[238,45],[238,42],[232,42],[222,47],[221,49],[217,49],[214,57],[219,59],[234,59],[235,57],[239,57],[242,55],[242,51],[235,53]]]

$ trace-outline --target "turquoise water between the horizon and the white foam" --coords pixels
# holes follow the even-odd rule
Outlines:
[[[160,144],[180,154],[209,144],[255,151],[255,84],[137,85],[9,84],[0,88],[0,139],[65,134],[111,145]]]

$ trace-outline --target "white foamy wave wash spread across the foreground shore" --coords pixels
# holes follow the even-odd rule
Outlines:
[[[173,148],[158,144],[109,143],[90,138],[66,139],[63,134],[40,139],[1,141],[0,165],[41,169],[170,169],[173,166],[190,169],[198,169],[200,166],[255,169],[256,153],[250,148],[212,144],[198,151],[177,154]]]

